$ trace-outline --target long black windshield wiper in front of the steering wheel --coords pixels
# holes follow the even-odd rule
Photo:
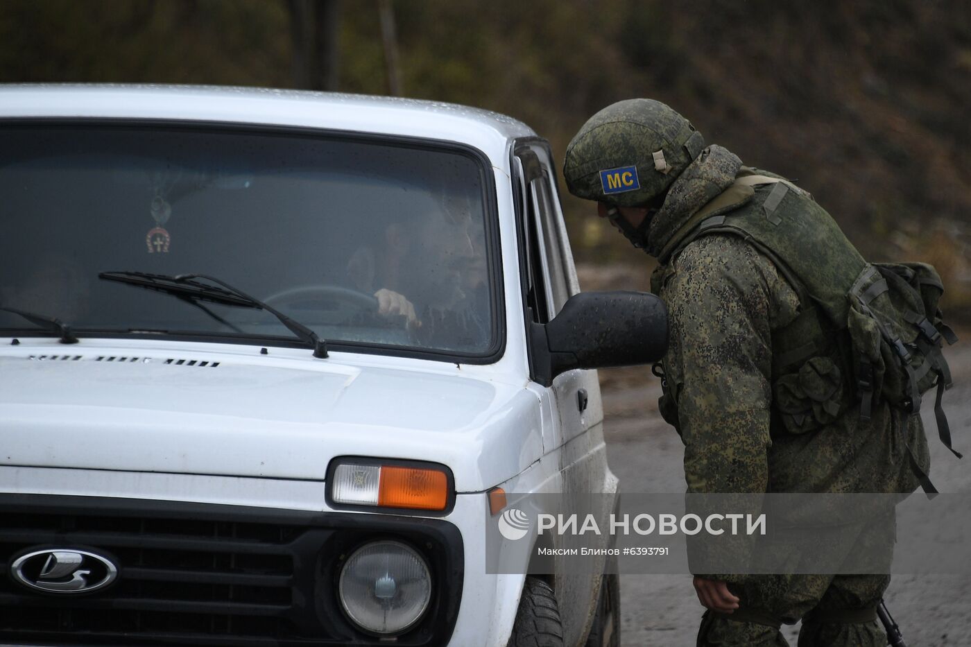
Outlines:
[[[309,348],[314,349],[315,358],[327,357],[327,342],[320,339],[316,332],[306,325],[294,322],[284,313],[276,308],[269,306],[254,296],[247,294],[242,289],[236,289],[225,281],[206,276],[205,274],[179,274],[168,276],[166,274],[149,274],[148,272],[101,272],[99,279],[105,281],[117,281],[129,286],[138,286],[145,289],[153,289],[166,294],[173,294],[190,302],[209,301],[222,305],[239,306],[242,308],[254,308],[255,310],[265,310],[283,323],[290,332],[295,334]],[[194,279],[203,279],[216,286],[209,286]]]

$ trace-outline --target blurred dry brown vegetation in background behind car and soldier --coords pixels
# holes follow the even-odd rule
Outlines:
[[[5,0],[0,81],[294,86],[302,0]],[[340,4],[343,90],[385,93],[378,0]],[[926,259],[971,318],[971,3],[393,3],[403,93],[523,119],[561,154],[593,112],[663,100],[797,179],[864,255]],[[643,258],[566,196],[577,255]],[[639,269],[638,271],[644,271]]]

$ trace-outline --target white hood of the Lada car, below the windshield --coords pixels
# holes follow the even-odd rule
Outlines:
[[[0,464],[322,480],[364,456],[479,492],[543,453],[536,395],[454,364],[108,353],[0,356]]]

